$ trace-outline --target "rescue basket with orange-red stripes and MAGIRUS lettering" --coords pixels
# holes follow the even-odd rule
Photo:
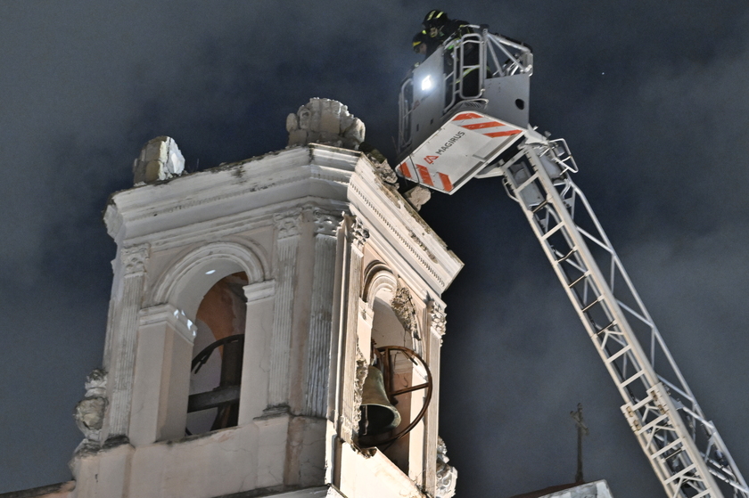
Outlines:
[[[440,192],[457,191],[528,129],[531,49],[472,29],[441,45],[400,88],[397,169]]]

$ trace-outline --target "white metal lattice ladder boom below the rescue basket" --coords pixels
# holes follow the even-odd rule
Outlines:
[[[621,411],[666,493],[749,498],[718,429],[704,416],[588,200],[572,182],[569,173],[576,169],[566,144],[523,143],[500,168],[507,193],[523,207],[624,398]]]

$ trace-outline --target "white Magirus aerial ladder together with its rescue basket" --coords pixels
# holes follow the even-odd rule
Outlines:
[[[401,85],[396,171],[452,194],[501,176],[612,376],[621,412],[671,498],[749,498],[728,447],[697,403],[580,188],[562,139],[528,124],[530,48],[473,27]],[[478,64],[464,63],[478,50]],[[465,84],[466,71],[479,84]]]

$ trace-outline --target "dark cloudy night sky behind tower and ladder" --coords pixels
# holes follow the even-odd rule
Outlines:
[[[0,0],[0,493],[70,479],[115,256],[101,214],[142,145],[173,137],[189,171],[250,158],[284,148],[286,115],[319,96],[394,161],[399,83],[432,8],[532,46],[531,123],[569,143],[575,181],[749,473],[744,0]],[[440,404],[457,496],[572,482],[578,403],[586,480],[663,495],[501,182],[435,194],[422,214],[465,262],[444,294]]]

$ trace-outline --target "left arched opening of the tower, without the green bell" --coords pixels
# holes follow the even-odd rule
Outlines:
[[[248,283],[247,273],[229,274],[205,293],[198,306],[187,434],[237,425]]]

